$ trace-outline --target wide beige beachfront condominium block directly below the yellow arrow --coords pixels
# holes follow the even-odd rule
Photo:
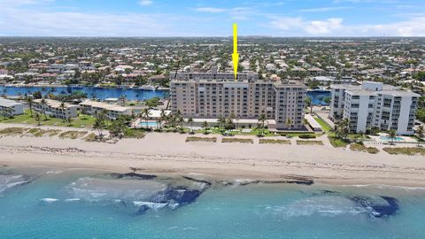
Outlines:
[[[304,127],[306,87],[300,81],[184,79],[170,82],[171,110],[183,117],[274,120],[269,127]]]

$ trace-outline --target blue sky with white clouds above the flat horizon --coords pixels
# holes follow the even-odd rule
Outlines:
[[[0,0],[0,36],[425,36],[425,0]]]

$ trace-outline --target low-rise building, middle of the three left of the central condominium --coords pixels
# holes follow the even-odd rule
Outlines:
[[[78,105],[67,104],[51,99],[45,99],[44,104],[42,99],[35,99],[33,109],[36,112],[46,114],[53,118],[67,119],[68,117],[78,116]]]

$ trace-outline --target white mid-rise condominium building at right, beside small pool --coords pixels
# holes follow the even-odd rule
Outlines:
[[[398,135],[414,133],[418,94],[365,81],[361,86],[332,85],[331,96],[331,119],[349,119],[353,132],[365,133],[375,127],[394,129]]]

